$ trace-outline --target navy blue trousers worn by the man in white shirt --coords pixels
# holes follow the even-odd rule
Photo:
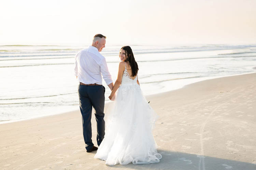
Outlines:
[[[105,135],[104,104],[105,87],[104,86],[85,86],[78,87],[80,111],[83,121],[83,135],[86,150],[90,150],[94,144],[91,140],[91,112],[95,109],[97,121],[97,144],[100,146]]]

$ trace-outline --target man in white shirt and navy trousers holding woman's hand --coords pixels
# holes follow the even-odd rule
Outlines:
[[[83,121],[83,135],[86,152],[95,151],[91,140],[91,112],[95,109],[97,121],[97,144],[100,146],[105,135],[104,103],[105,87],[102,86],[102,77],[110,90],[113,81],[106,64],[106,59],[99,52],[105,47],[106,37],[96,34],[91,46],[79,51],[75,56],[75,76],[79,80],[79,103]]]

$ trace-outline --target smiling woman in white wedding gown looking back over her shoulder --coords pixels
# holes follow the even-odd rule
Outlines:
[[[129,46],[120,49],[118,76],[109,96],[113,108],[106,118],[106,132],[94,158],[106,165],[158,163],[162,158],[152,128],[157,114],[142,95],[138,64]]]

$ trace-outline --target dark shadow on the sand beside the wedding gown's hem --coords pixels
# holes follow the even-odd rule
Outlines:
[[[182,152],[158,150],[162,159],[155,164],[128,164],[110,166],[116,169],[166,170],[256,170],[256,164]]]

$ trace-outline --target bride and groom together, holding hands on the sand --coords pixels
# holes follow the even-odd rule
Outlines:
[[[75,76],[79,83],[79,103],[83,121],[83,136],[87,152],[97,150],[95,158],[106,165],[158,163],[161,154],[152,135],[157,114],[142,94],[138,80],[138,64],[132,49],[124,46],[119,51],[119,68],[115,84],[99,52],[105,47],[106,37],[96,34],[91,46],[75,56]],[[113,108],[104,120],[105,88],[102,77],[112,91],[109,99]],[[97,144],[91,140],[91,113],[95,108]]]

